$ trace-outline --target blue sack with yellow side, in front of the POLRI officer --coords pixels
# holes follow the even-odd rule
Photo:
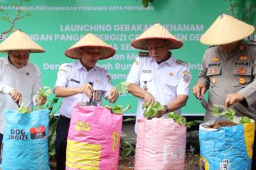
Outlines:
[[[223,118],[215,120],[223,120]],[[203,123],[199,128],[200,169],[250,170],[255,133],[254,121],[219,129],[203,127],[213,124],[215,120]]]

